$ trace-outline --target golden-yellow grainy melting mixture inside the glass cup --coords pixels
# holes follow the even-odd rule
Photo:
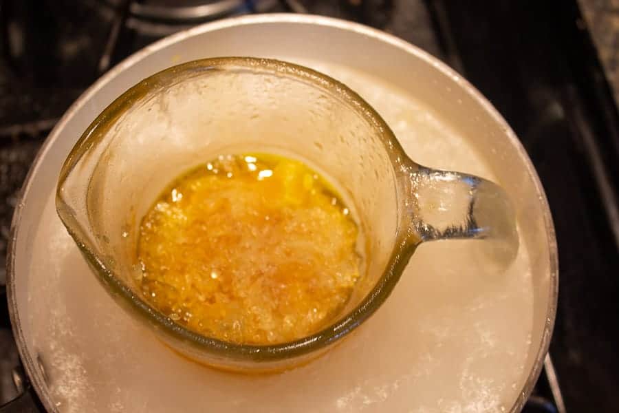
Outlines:
[[[208,337],[282,343],[325,327],[359,277],[358,226],[302,162],[219,156],[142,219],[144,297]]]

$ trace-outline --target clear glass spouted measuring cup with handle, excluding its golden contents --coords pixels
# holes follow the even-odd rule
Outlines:
[[[272,346],[199,335],[150,306],[138,287],[138,227],[160,191],[221,153],[248,151],[283,153],[323,172],[349,200],[367,244],[365,276],[334,322]],[[279,370],[322,354],[387,299],[422,242],[485,238],[506,260],[517,251],[514,215],[496,184],[417,165],[345,85],[268,59],[193,61],[124,92],[69,153],[56,207],[119,304],[175,350],[230,370]]]

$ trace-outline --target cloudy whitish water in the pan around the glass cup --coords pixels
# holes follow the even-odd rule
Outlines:
[[[422,103],[345,68],[309,65],[356,89],[417,162],[493,178],[466,137]],[[525,245],[502,271],[480,262],[483,242],[422,245],[384,306],[340,346],[290,372],[242,376],[163,346],[97,284],[52,196],[43,215],[36,236],[48,242],[33,251],[36,305],[25,321],[61,412],[503,412],[525,380]]]

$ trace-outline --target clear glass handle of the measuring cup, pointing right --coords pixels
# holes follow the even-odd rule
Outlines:
[[[410,172],[408,207],[419,242],[474,238],[492,241],[511,261],[518,252],[514,208],[499,185],[466,173],[418,167]]]

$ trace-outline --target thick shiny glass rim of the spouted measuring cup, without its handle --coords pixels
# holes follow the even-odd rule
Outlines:
[[[264,70],[277,75],[297,78],[298,80],[312,83],[315,86],[328,90],[330,94],[334,94],[338,98],[343,99],[352,110],[360,114],[362,118],[365,118],[370,125],[376,127],[382,136],[382,142],[394,170],[397,169],[398,165],[406,161],[412,162],[409,160],[408,156],[406,156],[404,149],[395,138],[391,128],[385,123],[378,112],[376,112],[376,109],[373,109],[373,107],[356,92],[330,76],[301,65],[275,59],[237,56],[199,59],[169,67],[144,78],[142,81],[123,92],[116,100],[113,100],[113,102],[93,120],[80,136],[63,163],[58,178],[58,187],[56,189],[56,209],[69,235],[76,241],[80,251],[89,261],[89,264],[96,269],[95,273],[100,281],[105,284],[106,288],[110,288],[113,293],[116,293],[116,295],[122,297],[125,302],[130,304],[130,310],[135,311],[143,319],[156,326],[161,326],[166,334],[187,341],[195,346],[197,350],[208,352],[209,354],[223,356],[237,361],[283,361],[326,348],[330,344],[347,336],[360,326],[363,321],[367,320],[391,294],[409,258],[415,251],[416,244],[400,242],[396,235],[389,261],[376,284],[371,288],[369,293],[365,295],[362,301],[360,301],[360,304],[350,310],[346,315],[338,317],[332,324],[325,326],[311,335],[294,341],[270,345],[239,344],[201,335],[181,324],[175,323],[175,321],[151,306],[151,304],[142,299],[139,294],[131,290],[122,279],[116,277],[113,271],[107,268],[105,263],[97,257],[97,254],[91,251],[91,248],[87,246],[86,242],[81,239],[74,229],[72,229],[72,224],[65,220],[65,217],[59,212],[60,208],[58,208],[60,205],[67,205],[61,195],[61,190],[67,177],[76,166],[78,160],[85,155],[89,147],[98,143],[98,140],[91,141],[91,137],[97,139],[95,135],[96,132],[100,131],[102,128],[109,127],[113,121],[124,114],[136,100],[143,98],[159,85],[169,84],[170,81],[173,81],[180,74],[188,72],[199,73],[210,70],[238,69]],[[103,136],[104,134],[100,134],[98,137],[102,138]],[[398,199],[397,196],[396,199]]]

